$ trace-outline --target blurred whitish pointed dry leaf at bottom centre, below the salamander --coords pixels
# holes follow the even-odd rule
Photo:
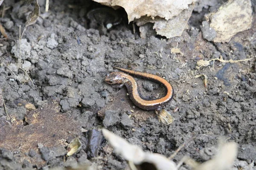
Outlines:
[[[155,167],[156,170],[177,170],[176,164],[161,154],[143,152],[137,145],[129,144],[125,139],[116,136],[107,129],[102,129],[102,133],[115,153],[120,154],[129,162],[133,162],[136,167],[147,162],[151,164],[150,167]]]

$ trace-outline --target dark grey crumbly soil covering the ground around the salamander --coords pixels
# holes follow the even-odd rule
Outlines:
[[[251,29],[236,34],[228,43],[213,43],[203,38],[200,29],[208,9],[192,14],[181,37],[148,34],[141,39],[138,28],[134,32],[132,23],[128,25],[123,9],[107,13],[109,17],[96,12],[99,16],[93,20],[86,17],[87,12],[103,6],[91,1],[50,0],[48,13],[45,1],[38,3],[41,17],[23,35],[20,57],[19,26],[24,28],[34,7],[15,0],[5,0],[0,7],[10,7],[0,18],[9,37],[0,40],[0,170],[47,170],[77,162],[99,170],[124,169],[126,161],[113,153],[100,133],[92,131],[102,127],[166,157],[198,135],[175,156],[175,162],[185,155],[200,162],[210,159],[209,150],[215,150],[218,139],[224,137],[239,144],[233,170],[256,169],[255,13]],[[122,16],[118,18],[121,23],[108,30],[106,20],[115,22],[115,15]],[[176,47],[183,54],[171,53]],[[196,68],[199,59],[220,55],[226,60],[254,59],[215,61]],[[134,106],[125,88],[106,84],[111,65],[157,74],[171,82],[175,96],[165,109],[175,121],[163,125],[154,111]],[[195,78],[198,74],[207,75],[206,88],[203,78]],[[164,93],[155,83],[137,81],[144,97],[157,98]],[[38,109],[28,111],[17,105],[17,99]],[[81,140],[81,150],[67,157],[67,144],[75,137]],[[96,142],[96,150],[90,148],[91,140]],[[186,165],[182,168],[189,169]]]

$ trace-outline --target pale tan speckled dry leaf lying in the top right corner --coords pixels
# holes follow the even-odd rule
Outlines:
[[[209,26],[217,32],[213,41],[229,42],[236,33],[251,27],[253,21],[251,0],[230,0],[218,11],[210,13],[206,19]]]

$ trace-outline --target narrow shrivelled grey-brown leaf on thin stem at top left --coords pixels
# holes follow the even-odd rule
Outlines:
[[[32,0],[27,0],[27,2],[31,3]],[[35,8],[34,8],[34,11],[32,11],[30,14],[29,14],[29,20],[26,21],[25,23],[25,28],[23,29],[23,32],[21,34],[21,39],[22,39],[22,36],[24,34],[24,32],[26,31],[26,28],[32,24],[34,24],[37,20],[38,20],[38,17],[39,17],[39,10],[40,10],[40,6],[38,5],[38,0],[35,0]]]

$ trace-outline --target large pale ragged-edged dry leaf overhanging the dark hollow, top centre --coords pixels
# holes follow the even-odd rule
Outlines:
[[[177,37],[183,33],[195,0],[94,0],[106,6],[121,6],[128,14],[128,21],[136,21],[138,26],[154,23],[157,34],[166,38]],[[141,32],[142,33],[142,32]],[[144,36],[145,33],[142,33]],[[144,36],[145,37],[145,36]]]

